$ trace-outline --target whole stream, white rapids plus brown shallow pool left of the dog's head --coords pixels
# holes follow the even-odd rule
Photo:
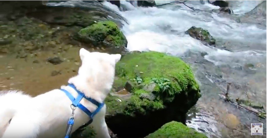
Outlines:
[[[168,2],[156,1],[156,4]],[[122,32],[128,40],[129,51],[164,52],[181,58],[191,66],[202,97],[188,112],[186,124],[210,138],[224,138],[252,137],[250,123],[263,123],[263,137],[266,137],[266,119],[244,109],[237,109],[219,96],[230,82],[231,98],[247,100],[249,97],[262,104],[266,110],[266,17],[247,14],[260,2],[230,1],[229,6],[234,12],[231,15],[207,12],[220,8],[207,1],[204,4],[199,1],[186,2],[189,7],[198,9],[196,11],[183,4],[137,7],[136,1],[133,5],[128,1],[120,1],[124,10],[107,1],[102,4],[127,20],[127,23],[122,21]],[[52,6],[83,7],[87,4],[83,1],[50,3]],[[244,18],[245,14],[249,18]],[[185,34],[192,26],[208,30],[216,39],[216,46],[205,46]],[[65,57],[60,66],[42,62],[57,52],[37,53],[40,64],[32,64],[36,58],[15,59],[13,55],[2,56],[0,53],[0,90],[20,89],[38,95],[59,87],[62,80],[77,74],[79,57],[71,51],[78,49],[69,45],[68,51],[58,51],[58,56]],[[50,77],[55,70],[64,75]],[[44,79],[38,79],[40,77]]]

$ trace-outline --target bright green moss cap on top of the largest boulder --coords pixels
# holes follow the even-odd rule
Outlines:
[[[188,87],[198,91],[199,86],[195,81],[190,67],[181,59],[159,52],[143,52],[125,55],[116,65],[116,72],[125,72],[120,78],[134,79],[140,77],[144,84],[150,84],[159,80],[156,91],[174,95],[186,92]],[[142,72],[142,73],[140,73]],[[127,74],[125,76],[125,74]],[[168,80],[169,88],[159,88],[159,84]]]

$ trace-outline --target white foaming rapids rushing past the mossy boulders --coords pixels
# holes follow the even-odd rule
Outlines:
[[[170,1],[156,1],[157,4],[168,3]],[[127,1],[121,1],[129,3]],[[190,7],[198,9],[218,8],[211,4],[197,4],[190,2]],[[186,51],[207,52],[205,59],[215,64],[228,64],[233,62],[230,59],[251,59],[251,53],[256,51],[236,51],[230,52],[217,48],[209,48],[204,46],[199,40],[185,35],[185,31],[192,26],[207,29],[210,34],[220,41],[235,41],[237,43],[255,43],[266,45],[266,30],[258,28],[256,25],[247,25],[237,23],[227,17],[219,17],[216,13],[193,12],[187,7],[177,7],[169,5],[166,8],[158,7],[134,7],[129,6],[130,10],[121,12],[115,5],[109,2],[103,2],[104,5],[110,7],[120,13],[128,20],[129,25],[124,25],[123,33],[128,40],[129,51],[159,51],[171,53],[172,55],[181,56]],[[128,4],[130,5],[130,3]],[[183,6],[183,4],[178,4]],[[266,51],[263,54],[253,56],[257,58],[266,57]]]

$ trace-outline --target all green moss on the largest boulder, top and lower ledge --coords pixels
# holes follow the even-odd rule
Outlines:
[[[135,84],[132,97],[122,102],[127,105],[123,110],[125,114],[145,114],[162,109],[164,103],[171,102],[179,93],[196,92],[197,99],[201,96],[190,67],[181,59],[164,53],[150,51],[125,55],[116,65],[116,75],[115,87],[124,86],[127,80]],[[155,84],[153,95],[156,98],[142,98],[142,93],[150,94],[143,87],[152,84]]]

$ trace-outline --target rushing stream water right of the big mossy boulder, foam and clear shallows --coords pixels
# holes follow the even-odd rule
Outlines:
[[[156,1],[158,5],[167,2]],[[260,2],[231,1],[230,6],[235,14],[244,14]],[[123,12],[109,2],[103,4],[128,20],[122,29],[128,50],[165,52],[192,66],[201,84],[202,97],[188,113],[188,126],[209,137],[249,137],[250,123],[265,122],[247,111],[236,110],[219,99],[218,94],[226,82],[231,82],[234,98],[246,99],[247,91],[251,100],[266,108],[266,24],[239,23],[235,20],[237,15],[194,12],[183,4],[144,8],[121,1],[128,9]],[[188,1],[187,5],[201,10],[219,9],[207,2]],[[205,46],[185,35],[192,26],[207,29],[217,40],[216,47]],[[253,69],[246,64],[253,64]]]

